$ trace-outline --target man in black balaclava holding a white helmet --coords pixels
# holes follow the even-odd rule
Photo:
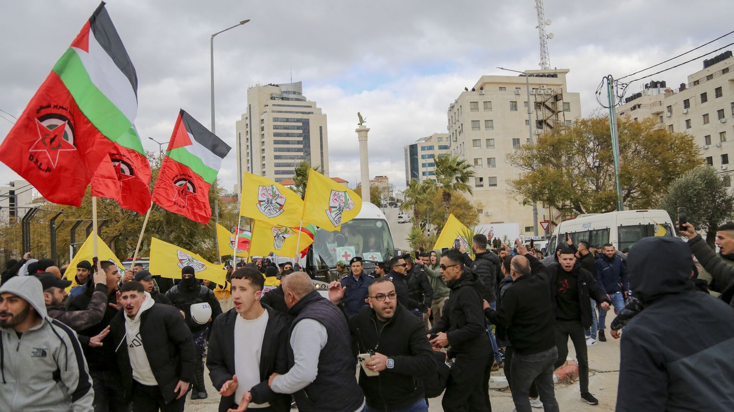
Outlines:
[[[214,295],[214,292],[196,279],[195,270],[191,266],[184,266],[181,269],[181,283],[168,290],[166,297],[171,301],[173,306],[183,311],[186,317],[186,324],[189,325],[189,329],[192,332],[194,345],[196,345],[196,374],[194,376],[191,399],[206,399],[208,395],[204,383],[203,358],[208,345],[209,328],[214,318],[222,314],[222,308],[219,306],[219,301],[217,301],[217,296]],[[191,316],[191,306],[205,302],[211,306],[211,319],[207,323],[200,324]]]

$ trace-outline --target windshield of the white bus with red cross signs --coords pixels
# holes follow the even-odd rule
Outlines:
[[[349,265],[355,256],[365,261],[367,270],[374,268],[374,262],[387,262],[395,253],[388,224],[377,218],[355,218],[341,225],[341,232],[317,228],[312,250],[316,272],[334,268],[340,260]]]

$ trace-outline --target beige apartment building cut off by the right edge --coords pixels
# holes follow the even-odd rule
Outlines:
[[[730,153],[734,155],[734,59],[727,51],[704,61],[702,70],[673,89],[651,81],[642,92],[625,99],[618,116],[652,117],[661,127],[694,136],[700,155],[731,185]],[[732,159],[734,160],[734,159]]]

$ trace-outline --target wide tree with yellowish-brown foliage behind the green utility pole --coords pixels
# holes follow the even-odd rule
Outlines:
[[[665,188],[702,163],[693,136],[671,133],[655,119],[619,118],[622,201],[653,207]],[[509,180],[523,202],[544,202],[562,214],[605,213],[617,208],[608,117],[578,120],[507,156],[523,172]]]

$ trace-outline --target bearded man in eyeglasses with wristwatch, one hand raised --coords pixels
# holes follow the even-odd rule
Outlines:
[[[339,304],[345,290],[339,282],[332,282],[329,300]],[[423,323],[399,304],[395,285],[387,278],[369,285],[367,302],[369,306],[349,317],[358,353],[371,354],[365,367],[379,372],[367,376],[360,368],[359,384],[367,404],[364,412],[427,412],[421,377],[435,372],[436,361]]]

